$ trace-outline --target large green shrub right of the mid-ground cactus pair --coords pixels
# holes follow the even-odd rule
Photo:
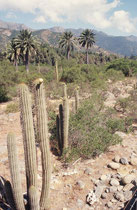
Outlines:
[[[107,150],[110,145],[121,142],[116,131],[128,131],[132,121],[119,119],[115,110],[103,111],[103,98],[93,94],[83,102],[76,115],[70,119],[71,152],[67,161],[75,158],[90,158]]]

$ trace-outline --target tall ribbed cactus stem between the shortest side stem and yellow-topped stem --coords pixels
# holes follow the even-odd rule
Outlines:
[[[19,86],[19,93],[28,191],[31,185],[37,187],[35,135],[33,127],[31,96],[28,87],[25,84],[21,84]]]

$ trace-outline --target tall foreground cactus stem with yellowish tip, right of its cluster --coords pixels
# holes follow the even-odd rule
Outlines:
[[[49,191],[51,179],[51,157],[48,137],[48,117],[46,111],[46,99],[44,84],[40,80],[35,81],[35,104],[37,115],[38,141],[41,149],[42,162],[42,192],[40,198],[41,210],[50,208]]]

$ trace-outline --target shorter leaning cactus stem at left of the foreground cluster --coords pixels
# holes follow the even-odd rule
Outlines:
[[[12,191],[13,197],[17,210],[25,210],[23,195],[22,195],[22,186],[21,186],[21,177],[19,171],[19,162],[16,148],[16,139],[13,133],[9,133],[7,137],[7,148],[8,148],[8,159],[12,180]],[[14,204],[13,204],[14,205]]]

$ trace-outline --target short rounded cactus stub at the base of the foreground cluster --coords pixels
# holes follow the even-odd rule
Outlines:
[[[32,210],[39,210],[38,190],[34,186],[29,188],[30,208]]]

